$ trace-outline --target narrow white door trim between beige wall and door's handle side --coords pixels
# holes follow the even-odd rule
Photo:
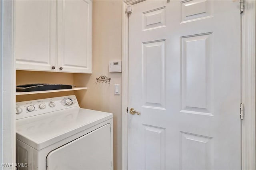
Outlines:
[[[122,4],[122,170],[128,169],[128,14]]]

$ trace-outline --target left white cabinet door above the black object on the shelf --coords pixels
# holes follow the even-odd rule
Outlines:
[[[16,69],[55,71],[56,1],[15,1]]]

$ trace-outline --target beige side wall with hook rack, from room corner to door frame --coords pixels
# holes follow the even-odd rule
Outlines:
[[[114,84],[120,84],[122,73],[109,73],[108,61],[121,60],[122,1],[92,2],[92,74],[74,74],[74,84],[88,87],[75,91],[81,107],[114,114],[114,169],[121,169],[121,95],[114,95]],[[110,84],[97,83],[105,75]]]

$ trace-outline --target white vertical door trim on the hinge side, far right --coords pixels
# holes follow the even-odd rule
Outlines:
[[[242,14],[242,170],[256,169],[255,156],[255,16],[256,1],[246,0]]]

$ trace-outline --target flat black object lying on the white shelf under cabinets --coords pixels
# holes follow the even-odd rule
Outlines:
[[[72,85],[37,83],[37,84],[26,84],[26,85],[16,86],[16,92],[45,91],[45,90],[59,90],[59,89],[72,89]]]

